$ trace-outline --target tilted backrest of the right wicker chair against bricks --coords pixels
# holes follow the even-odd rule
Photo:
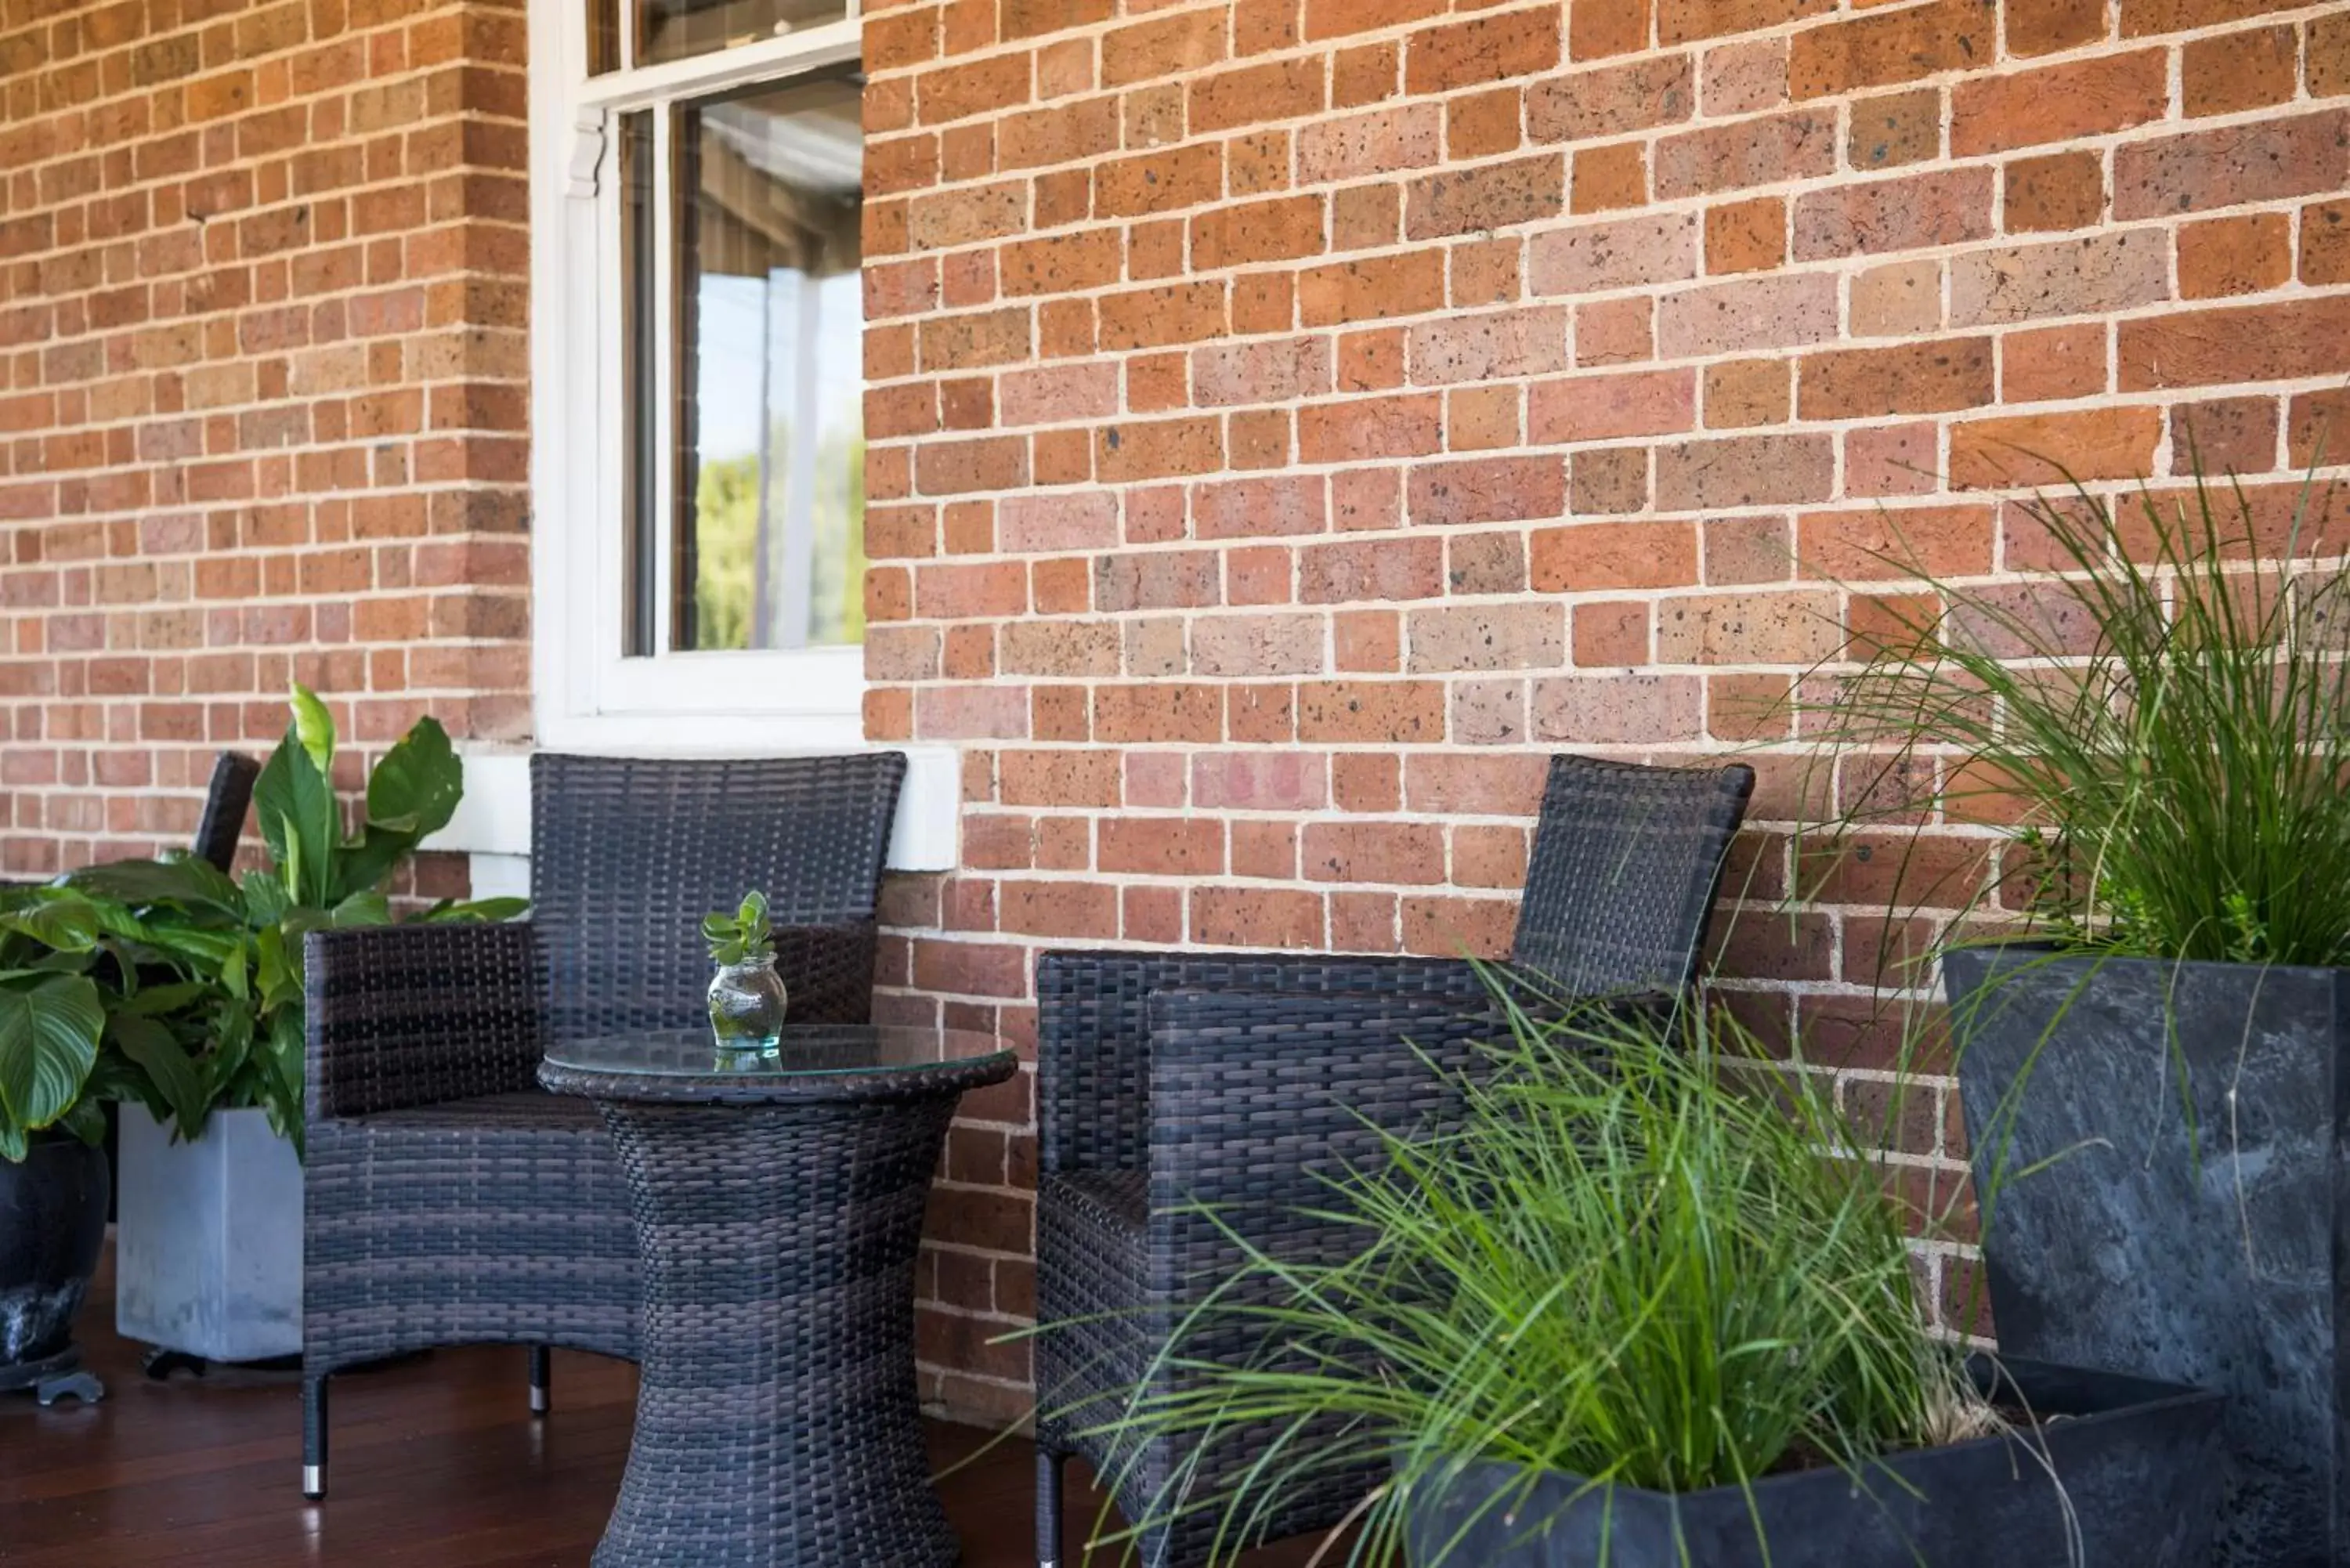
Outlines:
[[[1755,773],[1553,757],[1511,961],[1563,994],[1680,990]]]

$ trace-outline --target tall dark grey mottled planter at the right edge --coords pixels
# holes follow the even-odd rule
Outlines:
[[[1979,1192],[2061,1157],[1986,1213],[2000,1349],[2225,1392],[2209,1561],[2350,1561],[2345,971],[2002,947],[1943,978]]]

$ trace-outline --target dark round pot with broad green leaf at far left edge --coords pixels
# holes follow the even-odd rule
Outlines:
[[[96,1399],[73,1314],[106,1246],[106,1124],[85,1095],[106,1009],[101,912],[0,891],[0,1392]]]

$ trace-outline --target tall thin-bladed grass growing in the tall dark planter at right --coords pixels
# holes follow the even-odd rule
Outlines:
[[[1960,940],[1965,917],[2021,919],[2115,957],[2350,961],[2350,562],[2329,491],[2287,501],[2200,473],[2075,487],[2021,503],[2009,552],[2042,567],[2019,581],[1882,557],[1927,592],[1882,599],[1805,724],[1828,837],[1906,830],[1894,914],[1955,910]],[[1990,853],[1925,851],[1946,827],[1988,830]]]

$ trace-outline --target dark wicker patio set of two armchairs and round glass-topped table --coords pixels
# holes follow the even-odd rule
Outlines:
[[[599,1568],[952,1563],[914,1396],[914,1260],[956,1098],[994,1039],[872,1027],[877,893],[905,762],[533,759],[526,924],[310,938],[303,1490],[329,1378],[435,1345],[644,1368]],[[1551,764],[1513,964],[1574,992],[1690,980],[1753,776]],[[792,1027],[757,1065],[696,1030],[696,917],[773,889]],[[1039,1340],[1050,1403],[1140,1378],[1217,1237],[1269,1239],[1365,1128],[1438,1110],[1415,1051],[1492,1025],[1464,959],[1050,952],[1039,964]],[[1307,1154],[1290,1159],[1285,1150]],[[1039,1559],[1086,1439],[1041,1422]],[[1163,1448],[1163,1446],[1161,1446]],[[1100,1455],[1095,1455],[1100,1458]],[[1173,1455],[1126,1490],[1142,1507]],[[1351,1505],[1302,1500],[1288,1526]],[[1196,1542],[1154,1540],[1149,1561]],[[1173,1554],[1173,1556],[1168,1556]]]

